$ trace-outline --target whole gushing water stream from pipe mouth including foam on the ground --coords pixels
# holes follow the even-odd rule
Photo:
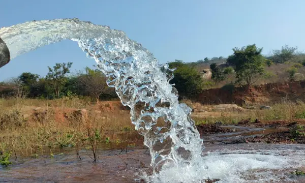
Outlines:
[[[147,181],[199,182],[215,177],[222,182],[243,182],[246,178],[242,172],[300,167],[304,163],[300,153],[285,158],[276,151],[269,155],[236,151],[226,156],[202,156],[203,141],[191,119],[191,108],[178,103],[177,90],[169,84],[173,70],[160,65],[153,54],[122,31],[74,18],[3,27],[0,37],[11,59],[66,39],[76,41],[88,57],[94,58],[121,103],[131,108],[131,121],[145,137],[153,168],[152,175],[143,174]],[[267,177],[271,174],[260,175],[257,181]]]

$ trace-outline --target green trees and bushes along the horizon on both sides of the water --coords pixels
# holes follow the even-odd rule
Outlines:
[[[198,60],[195,63],[184,63],[182,60],[169,62],[169,68],[174,70],[171,84],[178,90],[180,98],[192,98],[211,84],[204,81],[198,71],[198,65],[207,64],[212,73],[212,81],[217,83],[235,74],[232,85],[250,87],[265,72],[266,67],[273,64],[293,62],[295,65],[287,70],[290,80],[294,80],[297,69],[305,66],[305,56],[297,52],[296,47],[283,46],[280,50],[273,50],[269,56],[262,55],[262,49],[255,44],[241,48],[233,48],[228,57],[214,57]],[[106,84],[104,74],[99,70],[85,68],[85,72],[70,75],[72,63],[57,63],[48,67],[46,76],[41,77],[33,73],[22,73],[11,82],[0,82],[0,96],[12,97],[16,95],[28,98],[58,99],[64,96],[88,96],[92,100],[109,100],[117,98],[114,88]]]

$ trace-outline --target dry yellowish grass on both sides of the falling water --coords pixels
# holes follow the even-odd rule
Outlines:
[[[188,100],[184,102],[196,109],[193,115],[196,125],[219,121],[236,124],[247,118],[253,121],[256,118],[291,121],[305,118],[305,104],[302,102],[284,101],[272,105],[270,110],[225,111],[216,111],[215,106],[202,106]],[[205,112],[198,112],[200,109]],[[73,146],[77,155],[80,149],[86,149],[88,155],[96,160],[100,144],[143,138],[134,130],[129,112],[118,101],[96,105],[78,98],[1,100],[0,151],[22,156],[52,155],[59,148]]]

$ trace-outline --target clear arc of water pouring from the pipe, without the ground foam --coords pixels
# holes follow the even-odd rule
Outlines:
[[[190,107],[178,103],[177,91],[169,84],[173,70],[160,66],[153,54],[124,32],[74,18],[3,27],[0,37],[12,59],[51,43],[77,41],[87,56],[96,60],[121,103],[131,108],[131,121],[145,137],[155,172],[199,161],[202,139]]]

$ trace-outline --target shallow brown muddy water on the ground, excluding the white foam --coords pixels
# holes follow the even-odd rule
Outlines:
[[[218,135],[207,135],[203,138],[205,149],[203,156],[208,151],[218,151],[221,149],[293,149],[295,151],[304,151],[304,145],[270,145],[261,143],[247,144],[224,144],[209,143],[212,138],[217,140],[235,139],[239,136],[251,136],[253,134],[266,133],[265,129],[246,128],[246,127],[229,127],[239,128],[236,132]],[[269,129],[268,132],[271,130]],[[216,141],[217,141],[216,140]],[[76,156],[74,148],[65,148],[54,153],[51,159],[49,155],[40,156],[39,158],[17,158],[13,160],[13,165],[8,167],[0,166],[0,182],[135,182],[141,172],[150,173],[149,168],[150,156],[146,147],[137,144],[128,146],[126,144],[113,144],[101,146],[97,153],[99,159],[93,163],[90,153],[86,150],[80,151],[81,160]],[[289,154],[282,155],[289,156]],[[282,170],[281,170],[282,171]],[[290,176],[289,171],[282,173]],[[305,182],[303,177],[292,177],[296,182]]]

